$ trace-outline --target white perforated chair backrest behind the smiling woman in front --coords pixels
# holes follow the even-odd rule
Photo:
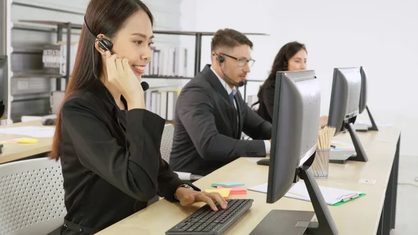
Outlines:
[[[61,163],[49,158],[0,165],[0,234],[45,235],[63,225]]]

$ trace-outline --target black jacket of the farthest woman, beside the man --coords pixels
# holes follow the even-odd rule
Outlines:
[[[274,107],[274,89],[275,82],[265,80],[264,84],[260,87],[258,93],[258,110],[257,113],[265,121],[272,123],[273,120],[273,107]]]

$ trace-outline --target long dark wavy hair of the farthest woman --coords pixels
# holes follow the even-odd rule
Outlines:
[[[291,59],[297,52],[300,50],[307,51],[307,47],[305,47],[302,43],[297,42],[291,42],[287,43],[283,47],[280,48],[279,52],[277,53],[276,57],[274,58],[272,70],[270,70],[270,74],[268,75],[267,79],[261,85],[260,90],[258,91],[257,97],[258,100],[261,100],[263,98],[263,89],[265,89],[266,86],[271,86],[276,81],[276,73],[278,71],[286,71],[288,70],[288,61]],[[254,103],[254,105],[258,104],[258,102]],[[254,106],[254,105],[251,105]]]

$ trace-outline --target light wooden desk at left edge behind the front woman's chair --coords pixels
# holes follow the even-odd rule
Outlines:
[[[42,126],[40,121],[29,121],[24,123],[13,123],[7,126],[0,126],[0,128],[10,128],[19,126]],[[27,137],[24,135],[6,135],[0,133],[0,140],[16,139],[20,137]],[[47,153],[52,148],[52,137],[38,138],[39,142],[36,144],[3,144],[2,153],[0,154],[0,164],[11,162],[13,160],[20,160],[29,156],[35,156],[40,153]]]

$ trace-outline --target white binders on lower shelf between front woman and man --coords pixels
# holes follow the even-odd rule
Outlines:
[[[150,88],[145,92],[146,109],[167,121],[174,121],[179,94],[178,87]]]

